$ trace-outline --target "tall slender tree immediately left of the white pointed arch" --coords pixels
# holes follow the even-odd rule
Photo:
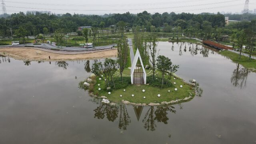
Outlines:
[[[129,48],[127,45],[128,44],[127,44],[126,38],[121,38],[120,40],[118,40],[117,62],[120,68],[120,75],[121,75],[122,82],[123,82],[122,73],[124,71],[124,68],[126,67],[127,60],[128,60],[128,53],[129,53]]]

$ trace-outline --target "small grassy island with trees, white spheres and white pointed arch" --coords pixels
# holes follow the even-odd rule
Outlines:
[[[196,80],[187,83],[176,76],[179,66],[172,64],[168,57],[156,56],[154,35],[142,41],[142,44],[147,43],[144,47],[136,46],[134,56],[132,46],[137,42],[136,39],[134,44],[126,38],[119,40],[117,59],[94,60],[93,74],[80,82],[79,87],[88,90],[91,96],[102,98],[106,104],[122,102],[137,106],[187,102],[194,98],[196,91],[202,91]]]

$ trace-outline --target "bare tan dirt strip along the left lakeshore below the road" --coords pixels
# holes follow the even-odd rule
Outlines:
[[[97,58],[116,57],[117,50],[105,50],[101,52],[91,52],[86,54],[56,54],[43,50],[30,48],[0,48],[0,54],[9,56],[17,60],[30,61],[61,61],[61,60],[90,60]],[[50,56],[50,60],[49,60]]]

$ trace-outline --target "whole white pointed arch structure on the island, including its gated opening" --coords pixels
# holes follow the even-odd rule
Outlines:
[[[146,84],[146,79],[147,79],[146,70],[144,68],[144,65],[140,56],[140,52],[137,49],[132,62],[131,82],[132,84]]]

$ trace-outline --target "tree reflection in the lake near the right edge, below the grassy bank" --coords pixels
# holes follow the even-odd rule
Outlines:
[[[246,87],[247,77],[250,71],[243,68],[242,65],[236,64],[236,69],[233,71],[233,75],[230,78],[233,86],[240,86],[240,88]]]

